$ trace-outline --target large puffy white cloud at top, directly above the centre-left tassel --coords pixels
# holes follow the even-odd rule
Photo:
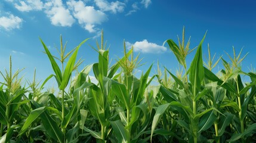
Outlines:
[[[101,24],[107,20],[107,15],[100,10],[95,10],[94,7],[86,6],[82,1],[69,1],[67,2],[69,9],[78,23],[81,24],[88,32],[96,32],[95,24]]]

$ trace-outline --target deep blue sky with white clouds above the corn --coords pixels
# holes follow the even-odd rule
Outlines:
[[[178,62],[174,54],[162,44],[166,39],[181,37],[186,27],[186,41],[191,36],[190,49],[201,41],[208,30],[203,44],[207,54],[207,43],[212,54],[228,60],[225,52],[233,54],[243,48],[242,55],[249,52],[243,61],[243,69],[250,64],[256,66],[256,2],[255,1],[172,1],[172,0],[84,0],[84,1],[43,1],[43,0],[1,0],[0,2],[0,70],[8,69],[9,56],[13,57],[14,69],[26,69],[24,77],[31,80],[36,68],[38,80],[53,73],[47,55],[43,54],[39,37],[54,55],[54,45],[60,46],[60,35],[67,41],[67,50],[74,48],[86,38],[78,58],[85,59],[84,66],[97,62],[95,46],[100,41],[100,30],[110,45],[113,61],[122,57],[124,39],[134,45],[140,53],[145,71],[157,61],[168,69],[175,70]],[[192,61],[192,52],[187,63]],[[220,63],[221,65],[221,63]],[[221,67],[220,67],[221,68]],[[218,68],[217,68],[218,69]],[[155,71],[152,72],[152,74]]]

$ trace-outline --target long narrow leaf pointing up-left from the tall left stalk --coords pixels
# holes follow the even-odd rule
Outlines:
[[[56,74],[56,77],[57,77],[57,83],[60,86],[60,83],[62,81],[62,74],[61,74],[61,71],[60,71],[60,67],[58,67],[58,64],[54,60],[53,55],[51,55],[51,52],[48,50],[45,43],[42,41],[41,38],[39,38],[39,39],[40,39],[42,45],[44,46],[45,52],[48,55],[49,60],[51,61],[51,67],[53,67],[53,71],[54,71],[54,73]]]

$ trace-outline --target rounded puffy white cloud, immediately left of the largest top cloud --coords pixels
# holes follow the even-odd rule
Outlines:
[[[75,23],[75,19],[70,14],[70,11],[63,6],[61,0],[47,2],[45,3],[45,8],[45,13],[53,25],[70,27]]]

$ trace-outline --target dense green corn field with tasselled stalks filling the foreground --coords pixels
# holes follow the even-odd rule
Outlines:
[[[66,54],[60,37],[59,57],[40,39],[53,69],[42,83],[35,71],[33,81],[22,85],[23,69],[13,72],[11,57],[10,69],[1,69],[0,142],[256,142],[255,71],[242,71],[246,55],[236,55],[235,49],[224,60],[212,57],[208,47],[203,60],[205,36],[194,49],[190,39],[185,43],[184,29],[178,42],[165,41],[184,72],[158,64],[156,73],[151,65],[140,77],[134,75],[140,57],[133,48],[127,51],[125,42],[124,57],[110,64],[102,34],[92,47],[98,63],[75,73],[83,62],[77,60],[79,48],[88,39]],[[213,73],[221,63],[224,68]],[[249,81],[243,82],[244,76]],[[59,95],[44,88],[52,78]],[[159,85],[150,84],[153,80]]]

